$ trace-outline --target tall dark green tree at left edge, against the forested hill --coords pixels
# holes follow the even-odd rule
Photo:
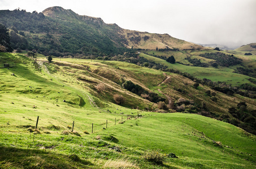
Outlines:
[[[3,24],[0,24],[0,45],[4,46],[7,52],[13,51],[13,48],[11,47],[10,43],[10,36],[8,30],[6,29],[6,26]]]

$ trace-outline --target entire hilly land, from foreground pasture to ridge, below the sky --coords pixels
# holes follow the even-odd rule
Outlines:
[[[255,168],[255,43],[203,47],[62,7],[0,11],[0,168]]]

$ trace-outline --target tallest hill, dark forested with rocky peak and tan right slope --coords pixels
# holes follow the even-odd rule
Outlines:
[[[39,50],[55,56],[69,54],[110,55],[127,48],[179,50],[202,49],[200,45],[171,37],[122,29],[101,18],[81,16],[62,7],[37,13],[0,11],[0,23],[10,29],[12,47]]]

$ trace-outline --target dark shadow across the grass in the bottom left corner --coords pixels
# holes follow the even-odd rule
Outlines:
[[[92,163],[77,155],[0,146],[0,168],[88,168]]]

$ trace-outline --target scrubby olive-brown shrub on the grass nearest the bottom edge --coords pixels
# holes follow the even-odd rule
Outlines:
[[[146,161],[155,163],[155,164],[163,164],[166,157],[159,153],[159,150],[153,150],[146,152],[142,158],[144,158]]]

